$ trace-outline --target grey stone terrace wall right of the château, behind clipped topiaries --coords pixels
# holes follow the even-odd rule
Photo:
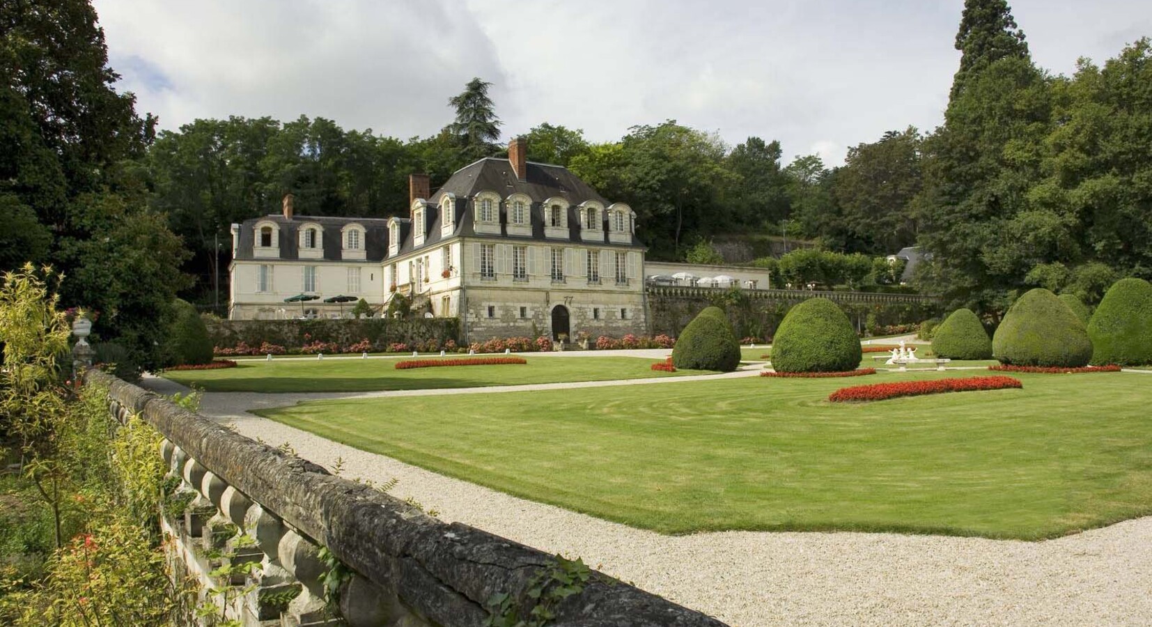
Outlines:
[[[817,296],[839,304],[857,328],[869,315],[880,325],[905,324],[926,320],[941,309],[939,299],[919,294],[649,286],[649,323],[653,335],[675,338],[700,310],[715,304],[728,312],[738,337],[771,338],[793,305]]]

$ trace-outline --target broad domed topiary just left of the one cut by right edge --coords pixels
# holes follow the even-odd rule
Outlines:
[[[1092,357],[1092,342],[1067,304],[1036,288],[1008,308],[992,338],[992,355],[1011,365],[1078,368]]]

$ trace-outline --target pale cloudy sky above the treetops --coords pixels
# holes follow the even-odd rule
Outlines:
[[[301,114],[435,133],[480,76],[505,136],[540,123],[617,139],[675,119],[785,157],[935,127],[962,0],[94,0],[121,88],[175,129]],[[1152,2],[1018,0],[1036,61],[1070,74],[1152,36]]]

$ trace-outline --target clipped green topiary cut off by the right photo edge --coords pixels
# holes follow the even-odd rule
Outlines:
[[[1152,284],[1121,279],[1108,288],[1087,325],[1092,363],[1152,363]]]

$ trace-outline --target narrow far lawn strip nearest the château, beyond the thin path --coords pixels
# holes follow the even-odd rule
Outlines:
[[[437,390],[526,383],[598,382],[705,375],[651,370],[659,360],[637,357],[533,357],[524,365],[465,365],[396,370],[399,360],[245,361],[223,370],[180,370],[164,376],[209,392],[371,392]],[[461,355],[453,355],[462,358]],[[463,356],[463,357],[467,357]],[[439,357],[422,357],[439,358]]]

